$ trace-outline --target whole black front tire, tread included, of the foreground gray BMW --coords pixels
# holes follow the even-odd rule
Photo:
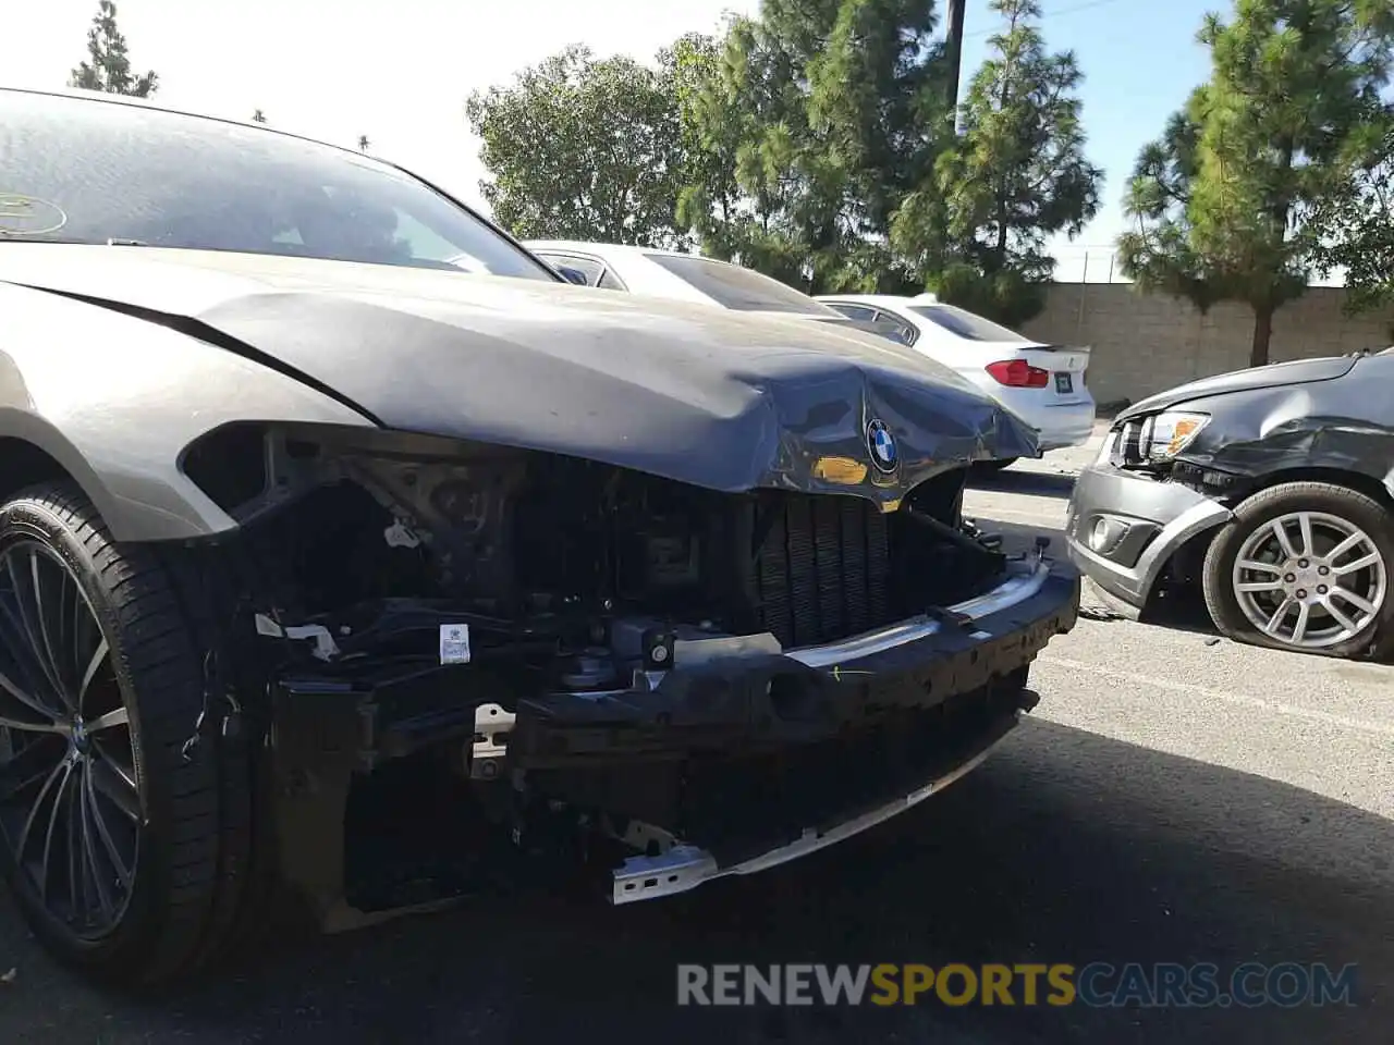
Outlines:
[[[0,506],[0,548],[17,541],[61,559],[99,621],[130,719],[141,818],[124,913],[100,938],[82,938],[45,904],[4,840],[0,869],[35,935],[67,964],[146,986],[194,973],[233,939],[269,861],[265,839],[252,833],[252,745],[205,734],[185,757],[205,706],[220,585],[194,571],[181,549],[114,543],[71,483]]]

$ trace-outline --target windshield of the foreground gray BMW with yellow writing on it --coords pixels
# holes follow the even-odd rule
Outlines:
[[[0,242],[14,238],[558,279],[367,156],[197,116],[0,91]]]

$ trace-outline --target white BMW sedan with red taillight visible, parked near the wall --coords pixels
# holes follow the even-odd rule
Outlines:
[[[1089,348],[1033,341],[933,294],[825,294],[850,319],[894,323],[907,346],[951,366],[1041,433],[1041,450],[1079,446],[1094,426]],[[1005,468],[1011,461],[994,461]]]

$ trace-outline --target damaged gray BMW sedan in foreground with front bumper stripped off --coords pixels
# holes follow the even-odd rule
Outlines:
[[[0,91],[0,861],[95,975],[803,856],[1075,623],[962,517],[1037,442],[949,371],[572,286],[350,150]]]

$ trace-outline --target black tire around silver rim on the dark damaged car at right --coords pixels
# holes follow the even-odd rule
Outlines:
[[[1365,621],[1351,638],[1326,648],[1299,648],[1274,638],[1249,620],[1234,591],[1234,564],[1243,546],[1260,527],[1291,511],[1319,511],[1359,527],[1383,556],[1387,570],[1394,568],[1394,518],[1376,500],[1328,482],[1285,482],[1259,490],[1243,500],[1234,520],[1216,534],[1206,550],[1202,588],[1206,609],[1221,634],[1236,642],[1320,653],[1340,658],[1384,658],[1394,652],[1394,591],[1384,598],[1379,613]]]

